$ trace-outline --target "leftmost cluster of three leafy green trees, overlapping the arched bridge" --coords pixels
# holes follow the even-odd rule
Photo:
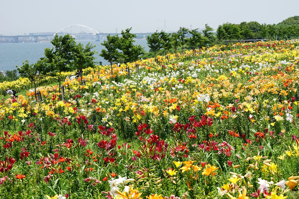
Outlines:
[[[45,49],[45,57],[40,58],[35,64],[29,64],[28,60],[23,62],[22,67],[18,68],[19,74],[27,77],[34,84],[34,91],[36,92],[36,84],[45,75],[56,76],[59,79],[59,87],[61,86],[61,72],[71,70],[82,70],[91,67],[96,62],[93,56],[95,46],[88,43],[83,47],[81,43],[77,44],[75,38],[70,35],[58,36],[56,35],[51,41],[54,45],[52,48]]]

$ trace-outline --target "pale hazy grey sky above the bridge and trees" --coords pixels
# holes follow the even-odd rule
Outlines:
[[[217,29],[226,22],[257,21],[277,24],[299,16],[299,0],[2,0],[0,34],[57,32],[69,25],[85,25],[103,33],[155,30],[177,31],[179,27]]]

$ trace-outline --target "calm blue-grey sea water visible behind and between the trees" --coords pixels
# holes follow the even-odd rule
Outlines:
[[[94,41],[94,40],[76,40],[76,42],[80,42],[83,46],[86,46],[88,42],[95,45],[96,47],[93,49],[96,53],[94,57],[97,57],[95,61],[102,61],[102,63],[109,64],[108,61],[104,60],[100,57],[100,53],[104,48],[101,43],[104,40]],[[145,47],[145,50],[148,52],[149,47],[147,46],[146,39],[135,40],[135,45],[141,45]],[[25,43],[0,43],[0,71],[3,70],[14,70],[16,69],[16,65],[19,67],[22,66],[23,61],[28,60],[30,64],[36,63],[41,57],[44,57],[45,48],[51,48],[53,45],[51,42],[45,41],[42,43],[33,43],[33,42],[25,42]]]

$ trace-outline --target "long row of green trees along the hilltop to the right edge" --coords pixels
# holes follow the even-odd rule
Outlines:
[[[224,23],[219,25],[216,34],[213,28],[205,24],[205,28],[188,30],[185,27],[180,27],[177,32],[165,33],[157,31],[152,35],[147,36],[147,44],[153,55],[159,53],[163,49],[166,55],[167,51],[176,53],[178,48],[184,51],[184,48],[194,50],[196,48],[213,46],[217,43],[223,43],[223,40],[255,40],[255,39],[291,39],[299,37],[299,16],[290,17],[279,24],[259,24],[256,21],[242,22],[240,24]]]

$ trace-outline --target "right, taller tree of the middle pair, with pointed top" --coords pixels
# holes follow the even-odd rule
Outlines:
[[[134,45],[133,38],[136,38],[135,34],[130,33],[131,28],[127,28],[125,31],[121,31],[122,37],[119,42],[119,50],[122,51],[121,56],[126,62],[136,61],[138,57],[144,54],[144,48],[141,45]]]

